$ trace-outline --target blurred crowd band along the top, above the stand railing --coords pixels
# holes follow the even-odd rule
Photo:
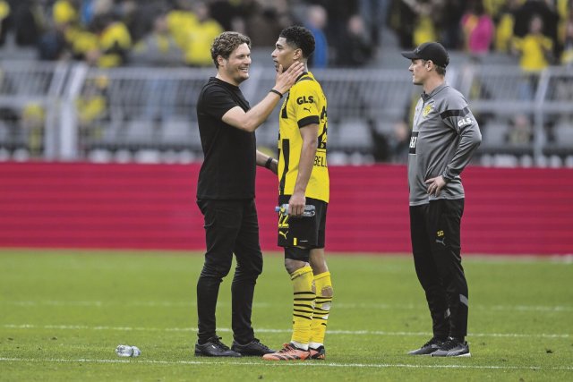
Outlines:
[[[313,67],[358,67],[382,33],[411,48],[440,41],[482,59],[517,55],[527,71],[573,63],[572,0],[0,0],[0,47],[35,47],[42,60],[209,66],[223,30],[273,46],[287,25],[317,42]],[[390,39],[391,40],[391,39]]]

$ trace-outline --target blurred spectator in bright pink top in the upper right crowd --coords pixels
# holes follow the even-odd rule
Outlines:
[[[495,27],[490,15],[485,13],[482,0],[468,5],[461,20],[464,32],[464,49],[472,55],[485,55],[490,51]]]

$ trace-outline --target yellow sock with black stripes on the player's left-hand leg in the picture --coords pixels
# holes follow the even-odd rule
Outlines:
[[[312,267],[305,266],[290,275],[293,282],[293,336],[291,341],[308,346],[311,337],[312,309],[316,294],[312,291]]]

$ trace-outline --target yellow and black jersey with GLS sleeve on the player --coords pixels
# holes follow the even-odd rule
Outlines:
[[[312,123],[319,125],[316,156],[306,198],[329,202],[329,167],[326,162],[327,102],[321,84],[311,72],[305,72],[290,89],[278,115],[278,181],[279,195],[292,195],[303,148],[300,129]]]

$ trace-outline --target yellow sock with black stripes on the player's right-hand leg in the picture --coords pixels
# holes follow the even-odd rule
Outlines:
[[[314,302],[314,311],[312,313],[310,344],[312,348],[317,348],[324,344],[330,304],[332,303],[330,272],[314,276],[314,286],[316,288],[316,301]]]

